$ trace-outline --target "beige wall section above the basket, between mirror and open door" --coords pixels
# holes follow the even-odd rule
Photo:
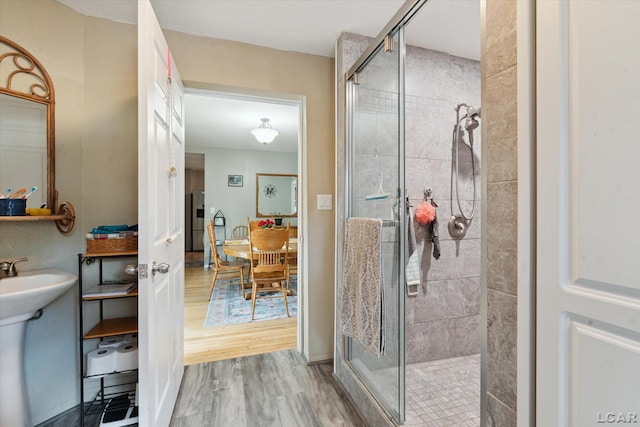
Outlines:
[[[87,228],[138,222],[138,32],[84,20],[82,213]]]

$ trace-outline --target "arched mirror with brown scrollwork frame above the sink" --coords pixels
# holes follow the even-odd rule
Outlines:
[[[0,36],[0,194],[22,188],[27,207],[55,205],[51,78],[17,43]]]

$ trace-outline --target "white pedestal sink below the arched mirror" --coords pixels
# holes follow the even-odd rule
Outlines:
[[[0,425],[29,425],[23,363],[27,320],[77,279],[54,268],[0,279]]]

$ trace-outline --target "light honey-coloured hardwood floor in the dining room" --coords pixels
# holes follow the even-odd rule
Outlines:
[[[185,365],[296,348],[296,317],[205,328],[212,278],[211,270],[185,269]]]

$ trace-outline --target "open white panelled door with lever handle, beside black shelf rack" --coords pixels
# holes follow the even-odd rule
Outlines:
[[[139,1],[138,395],[141,426],[169,425],[184,372],[183,94],[178,70],[151,4],[148,0]]]

